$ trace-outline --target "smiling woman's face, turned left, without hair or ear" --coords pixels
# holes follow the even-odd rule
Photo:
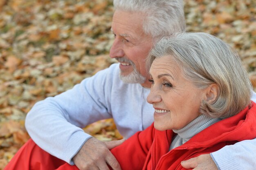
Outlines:
[[[150,75],[152,85],[147,101],[155,108],[157,130],[181,129],[200,115],[204,91],[184,78],[171,56],[156,58]]]

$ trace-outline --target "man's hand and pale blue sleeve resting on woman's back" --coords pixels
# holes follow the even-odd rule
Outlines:
[[[225,146],[211,154],[182,161],[181,165],[193,170],[255,170],[256,139]]]

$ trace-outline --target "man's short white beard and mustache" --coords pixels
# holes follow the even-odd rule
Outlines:
[[[123,82],[125,82],[125,83],[139,83],[139,84],[142,84],[142,83],[145,82],[146,77],[144,77],[143,75],[141,75],[139,73],[139,71],[137,71],[136,66],[132,61],[130,61],[130,60],[124,58],[124,57],[117,57],[116,60],[118,62],[128,63],[133,68],[133,71],[128,75],[122,75],[121,72],[119,73],[119,77]]]

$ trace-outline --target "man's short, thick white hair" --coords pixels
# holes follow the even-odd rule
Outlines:
[[[183,0],[114,0],[113,4],[116,10],[142,13],[144,33],[152,38],[186,29]]]

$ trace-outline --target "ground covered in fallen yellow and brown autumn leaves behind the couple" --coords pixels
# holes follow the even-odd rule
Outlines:
[[[256,90],[256,1],[184,0],[188,31],[203,31],[239,52]],[[35,102],[72,88],[114,63],[108,57],[112,0],[0,1],[0,170],[28,139]],[[120,139],[112,119],[85,128]]]

